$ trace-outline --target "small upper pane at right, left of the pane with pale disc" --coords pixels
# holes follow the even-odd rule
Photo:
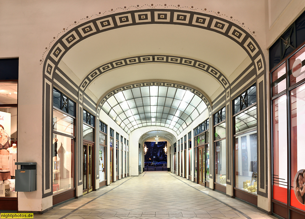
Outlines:
[[[272,95],[286,90],[286,63],[272,72]]]

